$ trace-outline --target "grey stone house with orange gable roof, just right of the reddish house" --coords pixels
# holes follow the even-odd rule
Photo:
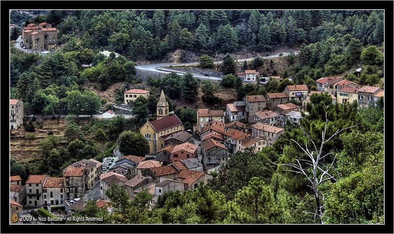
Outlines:
[[[227,162],[229,150],[220,142],[208,139],[201,143],[202,160],[207,168]]]

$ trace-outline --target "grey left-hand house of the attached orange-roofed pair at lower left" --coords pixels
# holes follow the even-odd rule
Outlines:
[[[30,175],[26,181],[26,206],[42,207],[42,188],[46,181],[46,175]]]

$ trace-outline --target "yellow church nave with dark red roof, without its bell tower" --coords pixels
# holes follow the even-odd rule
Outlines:
[[[149,120],[139,129],[139,132],[145,137],[149,144],[149,154],[154,155],[155,152],[164,147],[164,136],[177,131],[183,131],[185,128],[176,115],[171,115],[163,119],[152,122]]]

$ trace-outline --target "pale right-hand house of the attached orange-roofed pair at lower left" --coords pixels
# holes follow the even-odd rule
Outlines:
[[[48,177],[42,189],[44,206],[63,204],[64,180],[62,177]]]

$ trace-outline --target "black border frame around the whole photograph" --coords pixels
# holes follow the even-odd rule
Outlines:
[[[393,8],[394,1],[6,1],[0,2],[1,19],[2,22],[9,21],[10,9],[384,9],[385,10],[385,72],[388,79],[385,80],[386,87],[393,87]],[[2,103],[9,99],[9,42],[8,28],[5,30],[5,23],[2,24],[2,32],[4,33],[1,39],[3,52],[3,68],[1,70],[1,96]],[[7,33],[7,34],[5,34]],[[4,36],[7,35],[7,36]],[[8,69],[6,63],[8,62]],[[6,85],[6,78],[8,77],[8,84]],[[385,115],[386,113],[393,113],[393,98],[392,92],[387,92],[388,98],[385,98]],[[7,104],[8,105],[8,104]],[[392,114],[385,119],[385,129],[389,132],[393,131]],[[391,117],[391,118],[390,118]],[[1,144],[3,156],[1,157],[1,182],[8,184],[9,176],[9,132],[7,135],[8,118],[6,114],[1,115],[1,122],[3,123],[3,131],[1,131]],[[388,127],[390,126],[390,127]],[[8,128],[8,127],[7,127]],[[385,135],[385,141],[392,143],[392,134]],[[7,143],[6,143],[7,142]],[[390,145],[389,143],[389,145]],[[385,144],[386,146],[386,144]],[[1,191],[4,194],[8,193],[6,186],[1,186]],[[322,227],[311,228],[311,225],[124,225],[118,224],[116,226],[103,225],[49,225],[45,228],[41,226],[31,225],[10,225],[9,224],[9,210],[5,208],[9,204],[8,197],[1,196],[1,233],[394,233],[393,229],[393,145],[385,147],[385,224],[384,225],[323,225]],[[2,206],[1,206],[2,205]],[[318,225],[318,224],[314,224]],[[65,227],[63,227],[65,226]],[[122,231],[120,231],[120,229]]]

